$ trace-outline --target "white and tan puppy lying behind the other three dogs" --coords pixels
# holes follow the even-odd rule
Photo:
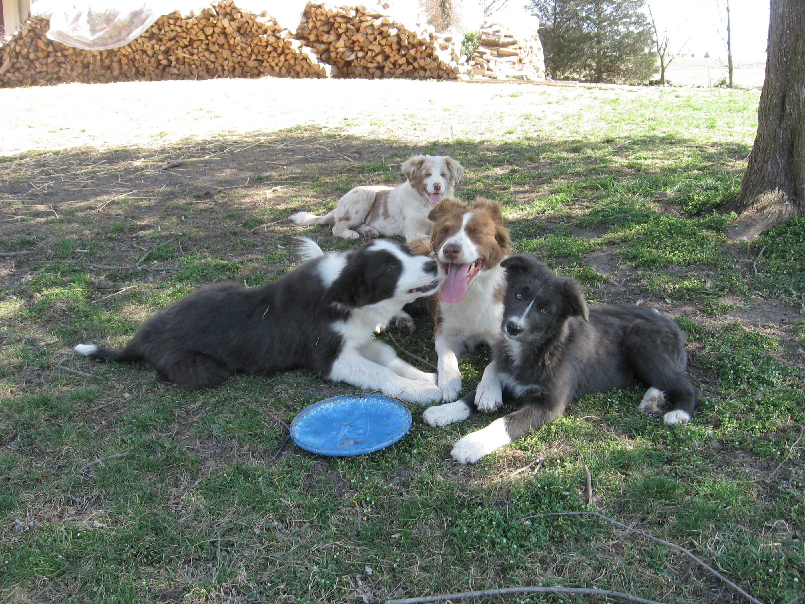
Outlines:
[[[407,180],[398,187],[356,187],[332,212],[299,212],[291,220],[297,225],[334,225],[332,234],[345,239],[399,235],[413,243],[427,238],[433,225],[427,214],[442,197],[455,195],[464,168],[449,155],[414,155],[403,162],[403,173]]]

